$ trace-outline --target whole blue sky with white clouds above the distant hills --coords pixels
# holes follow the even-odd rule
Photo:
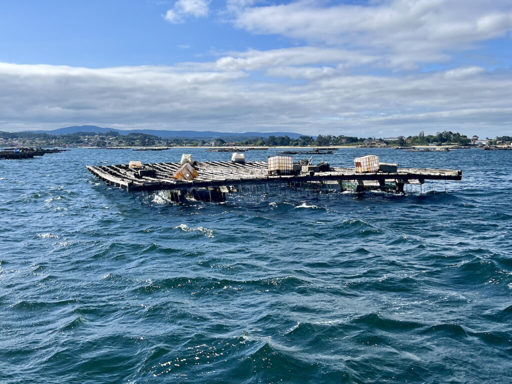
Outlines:
[[[0,130],[512,135],[512,0],[16,0]]]

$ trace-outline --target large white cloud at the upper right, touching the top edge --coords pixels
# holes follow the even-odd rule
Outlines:
[[[251,33],[366,49],[387,58],[388,64],[396,62],[406,69],[418,62],[446,60],[446,52],[472,48],[512,30],[510,0],[392,0],[335,6],[311,1],[260,7],[241,4],[231,6],[232,22]]]

